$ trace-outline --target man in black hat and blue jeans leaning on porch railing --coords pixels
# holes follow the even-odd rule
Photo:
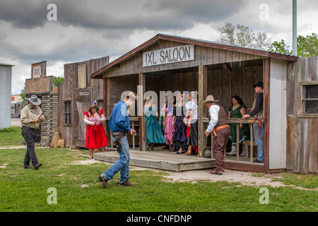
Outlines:
[[[257,94],[256,99],[253,102],[252,112],[249,114],[243,115],[243,119],[247,119],[250,117],[263,117],[264,109],[263,109],[263,100],[264,100],[264,83],[257,82],[253,85],[255,93]],[[264,162],[264,124],[261,124],[261,128],[257,123],[253,124],[254,129],[254,139],[255,143],[257,143],[257,159],[254,162]]]

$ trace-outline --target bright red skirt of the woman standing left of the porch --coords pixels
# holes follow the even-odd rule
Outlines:
[[[95,127],[95,128],[94,128]],[[99,124],[98,126],[87,125],[86,127],[86,148],[97,149],[106,147],[108,145],[104,126]]]

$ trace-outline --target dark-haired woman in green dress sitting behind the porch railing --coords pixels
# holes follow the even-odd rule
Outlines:
[[[246,106],[242,99],[235,95],[232,97],[232,106],[229,109],[228,117],[229,118],[236,118],[241,119],[243,115],[246,114]],[[249,141],[250,134],[249,134],[249,126],[248,124],[240,124],[240,130],[239,130],[239,144],[243,141]],[[236,155],[237,153],[237,138],[236,138],[236,124],[232,123],[230,124],[230,141],[232,141],[232,150],[230,153],[227,153],[228,155]],[[242,155],[245,155],[245,153],[242,153]]]

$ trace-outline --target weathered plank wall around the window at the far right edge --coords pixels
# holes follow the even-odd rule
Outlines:
[[[300,57],[288,63],[287,78],[287,162],[288,170],[318,172],[318,118],[302,115],[302,85],[318,81],[318,57]]]

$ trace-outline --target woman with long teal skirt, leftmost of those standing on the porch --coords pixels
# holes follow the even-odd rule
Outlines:
[[[145,104],[146,114],[146,150],[153,150],[154,143],[165,143],[163,132],[158,122],[158,107],[153,104],[152,97],[149,96]]]

